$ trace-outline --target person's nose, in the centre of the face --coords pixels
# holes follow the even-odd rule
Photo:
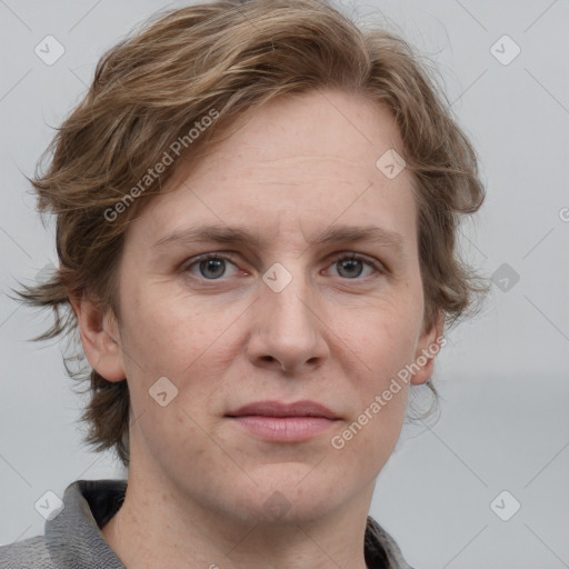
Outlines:
[[[261,282],[251,318],[250,361],[296,376],[320,367],[329,355],[320,305],[301,277],[278,292]]]

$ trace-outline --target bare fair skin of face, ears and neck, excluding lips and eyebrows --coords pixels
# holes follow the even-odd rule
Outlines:
[[[391,116],[361,96],[276,99],[130,226],[118,322],[74,301],[90,365],[109,381],[127,378],[131,393],[129,487],[102,530],[127,567],[366,567],[375,480],[409,386],[345,448],[330,441],[441,332],[422,327],[411,174],[388,179],[376,167],[390,148],[403,153]],[[266,242],[152,247],[198,222]],[[402,248],[311,244],[338,223],[397,231]],[[346,267],[332,258],[342,251],[385,269]],[[224,273],[208,263],[200,272],[192,259],[208,252],[232,253]],[[280,292],[262,280],[276,262],[292,278]],[[427,381],[433,362],[411,382]],[[161,377],[178,389],[164,407],[149,396]],[[264,440],[226,416],[307,399],[338,420],[302,442]]]

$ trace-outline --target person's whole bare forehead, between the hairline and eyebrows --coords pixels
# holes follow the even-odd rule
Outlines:
[[[390,149],[405,153],[395,120],[361,94],[281,97],[182,167],[176,184],[154,198],[146,232],[156,241],[216,222],[306,241],[338,222],[377,224],[412,243],[411,176],[403,169],[390,179],[377,166]]]

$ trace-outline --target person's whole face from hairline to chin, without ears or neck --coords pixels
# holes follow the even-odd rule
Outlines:
[[[240,519],[369,505],[409,385],[382,393],[433,338],[411,174],[376,166],[391,148],[396,124],[367,99],[281,98],[142,210],[116,338],[131,473]]]

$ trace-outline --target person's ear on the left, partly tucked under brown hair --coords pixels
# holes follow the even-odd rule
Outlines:
[[[76,311],[81,342],[90,366],[109,381],[126,379],[117,319],[109,308],[102,310],[86,295],[70,297]]]

